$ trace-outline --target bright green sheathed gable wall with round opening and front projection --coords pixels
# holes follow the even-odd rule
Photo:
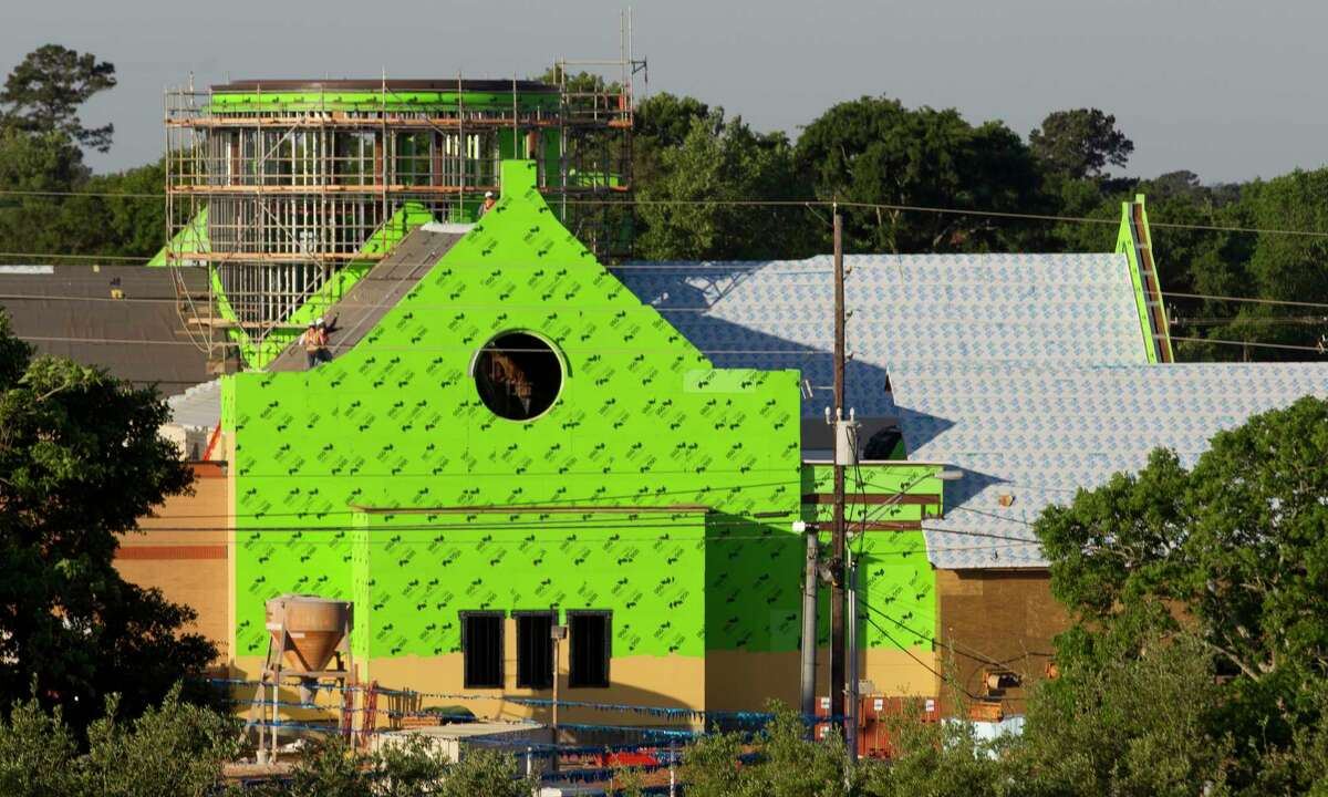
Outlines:
[[[479,347],[518,329],[566,364],[558,401],[527,422],[494,417],[469,375]],[[497,209],[351,352],[309,372],[235,375],[226,391],[240,656],[263,654],[262,602],[286,591],[368,599],[355,644],[374,658],[450,650],[438,627],[458,611],[540,608],[550,595],[614,610],[615,655],[797,647],[798,373],[714,369],[558,224],[530,162],[503,165]],[[709,509],[669,521],[685,543],[663,539],[673,531],[657,515],[594,511],[676,505]],[[517,519],[392,513],[467,506]],[[531,507],[591,511],[527,526]],[[522,578],[535,549],[540,578]],[[428,600],[380,599],[433,578],[444,592]],[[397,632],[381,634],[388,624]]]

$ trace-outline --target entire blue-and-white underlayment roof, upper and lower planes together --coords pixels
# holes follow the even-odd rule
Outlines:
[[[926,531],[936,567],[1044,566],[1023,539],[1049,503],[1138,469],[1157,446],[1193,461],[1220,429],[1328,395],[1328,364],[1150,365],[1125,255],[850,255],[845,266],[849,406],[898,417],[911,460],[965,472]],[[618,274],[716,365],[801,368],[815,385],[802,414],[823,417],[829,256]]]

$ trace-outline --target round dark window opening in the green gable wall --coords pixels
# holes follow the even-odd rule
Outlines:
[[[479,400],[494,414],[529,421],[543,414],[563,388],[563,367],[547,343],[526,335],[499,335],[475,359]]]

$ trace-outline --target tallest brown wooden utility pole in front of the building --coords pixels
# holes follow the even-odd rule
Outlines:
[[[843,462],[850,456],[843,450],[843,218],[838,205],[834,207],[834,537],[830,554],[830,715],[846,729],[845,717],[845,628],[843,628],[843,584],[845,584],[845,511],[843,511]]]

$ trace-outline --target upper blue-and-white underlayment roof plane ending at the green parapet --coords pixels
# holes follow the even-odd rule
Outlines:
[[[859,416],[894,414],[908,363],[1146,363],[1125,255],[849,255],[846,381]],[[833,260],[636,263],[615,271],[720,367],[833,381]],[[805,400],[819,417],[827,389]]]

